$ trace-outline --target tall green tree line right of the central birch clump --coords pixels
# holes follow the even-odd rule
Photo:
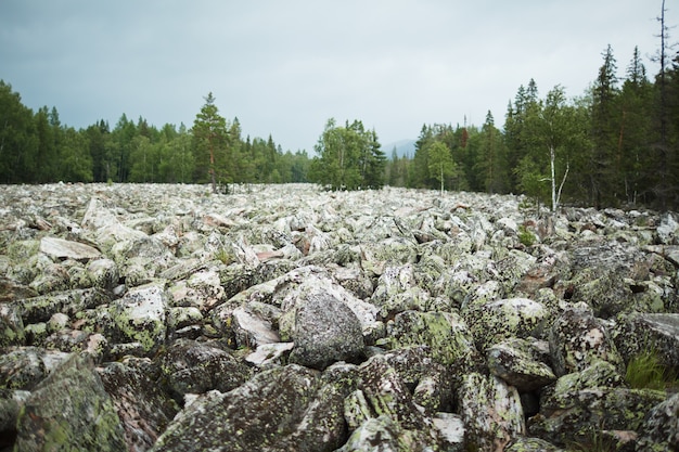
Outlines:
[[[650,80],[638,49],[618,79],[608,46],[587,92],[561,86],[541,96],[535,80],[518,87],[499,129],[488,112],[481,128],[424,125],[413,156],[394,152],[390,185],[523,193],[556,209],[679,207],[679,53]]]

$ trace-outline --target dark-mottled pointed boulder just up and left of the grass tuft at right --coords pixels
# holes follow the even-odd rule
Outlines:
[[[549,331],[552,369],[556,376],[581,371],[597,360],[623,369],[610,328],[584,304],[566,309]]]

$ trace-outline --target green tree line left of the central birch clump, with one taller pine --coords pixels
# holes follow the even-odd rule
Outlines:
[[[225,119],[212,93],[191,128],[158,129],[123,114],[114,127],[102,119],[76,130],[61,122],[56,107],[33,112],[0,80],[0,183],[214,182],[216,189],[306,182],[309,163],[305,151],[283,152],[271,135],[243,138],[238,118]]]

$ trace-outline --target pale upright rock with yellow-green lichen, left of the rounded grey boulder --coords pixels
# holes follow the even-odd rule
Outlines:
[[[145,353],[165,344],[168,297],[164,285],[149,284],[130,289],[111,304],[113,341],[140,343]]]

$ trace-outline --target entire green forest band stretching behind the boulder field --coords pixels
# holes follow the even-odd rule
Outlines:
[[[56,107],[37,112],[0,80],[0,183],[315,182],[329,190],[414,189],[525,194],[555,210],[562,204],[679,207],[679,53],[663,42],[650,77],[638,49],[617,77],[613,49],[590,88],[568,98],[561,86],[541,94],[520,86],[503,126],[490,112],[481,127],[423,125],[413,155],[390,158],[359,119],[328,119],[311,151],[283,151],[273,138],[243,138],[208,93],[191,127],[161,128],[125,114],[112,127],[79,130]],[[509,99],[512,99],[511,95]]]

